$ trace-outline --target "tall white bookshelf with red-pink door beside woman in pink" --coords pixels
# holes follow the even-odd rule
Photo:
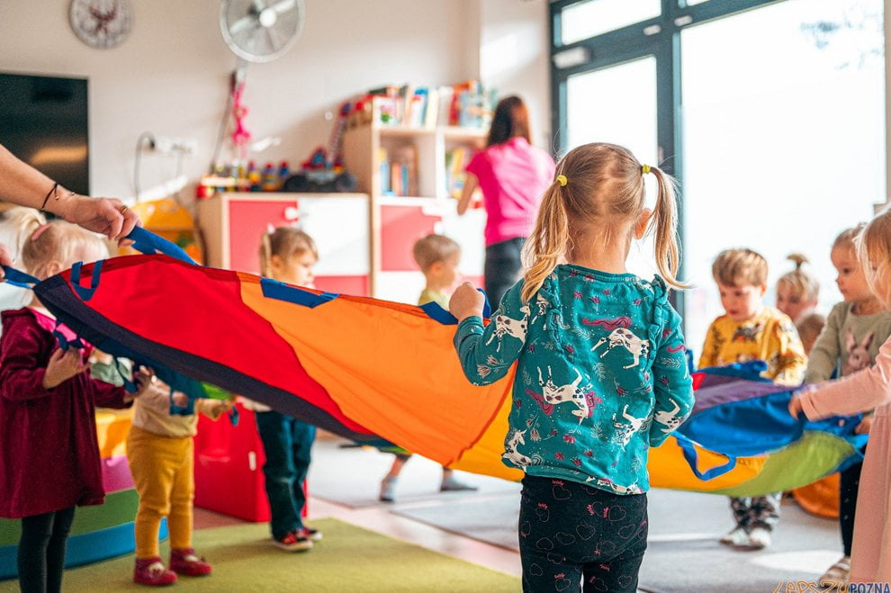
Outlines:
[[[452,170],[463,171],[473,152],[485,145],[488,130],[384,123],[380,109],[374,100],[368,121],[347,128],[343,137],[347,170],[356,175],[358,191],[369,196],[370,294],[390,301],[417,300],[424,278],[411,247],[431,232],[461,244],[465,278],[482,285],[485,213],[471,210],[457,216],[454,193],[459,190],[448,186],[452,175],[446,156],[460,153],[463,164]],[[394,175],[394,168],[403,164]]]

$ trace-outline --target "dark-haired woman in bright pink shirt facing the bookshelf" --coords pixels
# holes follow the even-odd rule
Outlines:
[[[501,99],[495,109],[486,148],[465,171],[458,214],[473,192],[482,190],[486,219],[485,288],[492,308],[517,282],[523,242],[532,233],[538,202],[554,182],[554,158],[530,144],[529,113],[518,96]]]

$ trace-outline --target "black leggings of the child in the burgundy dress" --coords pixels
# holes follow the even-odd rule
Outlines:
[[[19,587],[23,593],[57,593],[62,589],[65,544],[74,507],[22,519],[19,540]]]

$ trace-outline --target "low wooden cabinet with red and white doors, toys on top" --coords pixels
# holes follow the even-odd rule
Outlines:
[[[369,294],[369,205],[365,193],[217,193],[198,202],[207,265],[259,274],[260,240],[300,221],[319,247],[316,286]]]

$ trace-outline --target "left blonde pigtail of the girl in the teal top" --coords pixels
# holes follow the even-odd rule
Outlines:
[[[554,182],[545,192],[538,209],[536,228],[523,249],[523,259],[527,265],[524,274],[526,282],[521,293],[524,302],[538,292],[569,247],[569,217],[563,202],[563,191],[560,184]]]

